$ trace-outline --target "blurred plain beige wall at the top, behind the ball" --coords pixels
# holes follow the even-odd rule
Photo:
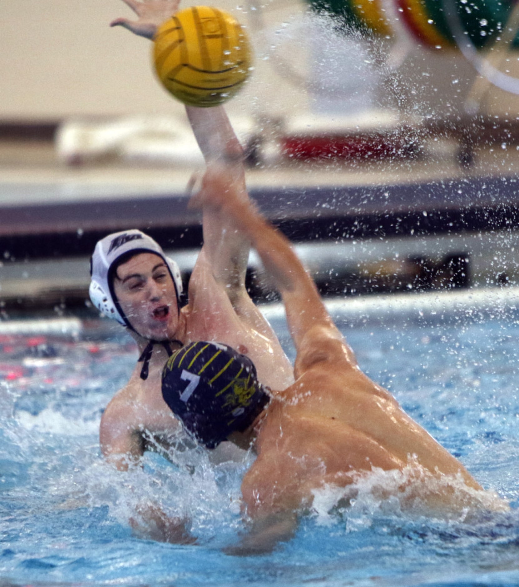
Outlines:
[[[276,0],[258,5],[257,11],[230,0],[219,0],[218,5],[249,26],[256,48],[255,76],[229,104],[231,113],[256,109],[283,114],[296,107],[313,108],[320,97],[308,95],[304,79],[323,45],[317,37],[297,35],[297,22],[306,7],[297,0]],[[181,113],[181,105],[154,80],[150,43],[108,26],[112,19],[132,14],[118,0],[3,0],[0,119]],[[476,75],[459,53],[421,49],[413,43],[402,65],[390,71],[380,66],[390,45],[384,39],[376,45],[382,80],[375,100],[434,116],[463,108]],[[341,50],[349,59],[334,61]],[[337,52],[332,48],[331,57],[328,65],[321,63],[318,72],[314,70],[312,79],[317,76],[322,82],[344,76],[352,82],[355,68],[358,79],[370,75],[369,59],[359,53],[356,62],[355,48],[337,48]],[[300,73],[299,83],[283,70],[283,61]],[[517,70],[515,54],[508,70]],[[322,94],[326,93],[324,87]],[[498,114],[519,110],[515,96],[494,88],[481,107]]]

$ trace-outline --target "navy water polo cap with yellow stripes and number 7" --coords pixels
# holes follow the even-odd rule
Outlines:
[[[211,342],[192,343],[169,357],[162,371],[162,397],[207,448],[246,430],[270,399],[248,357]]]

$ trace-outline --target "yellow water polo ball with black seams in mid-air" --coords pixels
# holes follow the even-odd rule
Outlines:
[[[211,6],[177,12],[154,38],[158,78],[168,92],[191,106],[216,106],[233,97],[252,69],[251,55],[240,23]]]

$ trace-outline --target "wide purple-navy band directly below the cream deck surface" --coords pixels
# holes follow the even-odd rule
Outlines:
[[[296,242],[519,229],[515,177],[251,195]],[[18,260],[90,255],[97,239],[125,228],[141,228],[166,249],[199,247],[200,217],[187,202],[175,195],[0,208],[0,254]]]

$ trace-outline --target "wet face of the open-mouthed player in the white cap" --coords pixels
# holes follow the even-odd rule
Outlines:
[[[114,294],[133,328],[144,338],[174,338],[178,324],[175,285],[163,259],[139,253],[117,267]]]

